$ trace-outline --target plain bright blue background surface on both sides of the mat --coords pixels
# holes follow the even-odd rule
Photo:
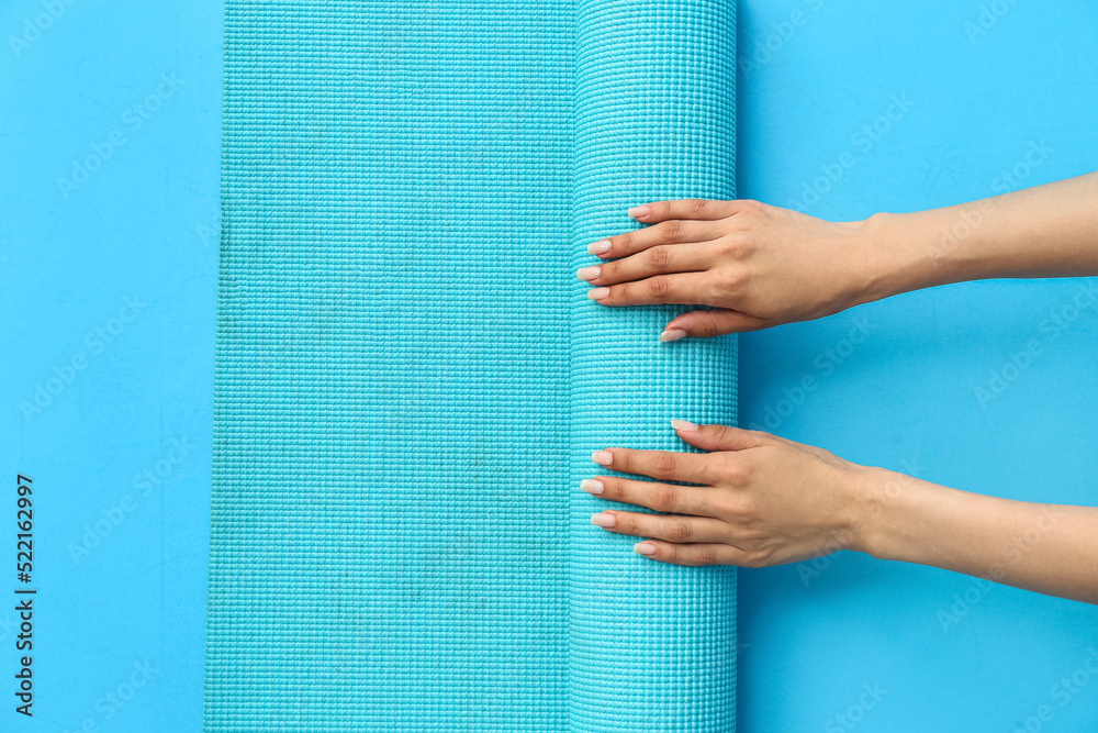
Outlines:
[[[1005,12],[970,35],[982,5]],[[13,48],[48,7],[57,18]],[[34,478],[35,711],[48,730],[201,723],[221,13],[206,0],[0,9],[0,278],[11,314],[0,325],[0,497],[13,521],[15,474]],[[740,196],[788,206],[843,153],[853,165],[818,201],[800,201],[808,213],[850,220],[996,193],[997,177],[1040,141],[1051,153],[1020,185],[1098,168],[1098,8],[1086,0],[746,0],[739,29]],[[757,55],[772,35],[770,56]],[[168,90],[161,74],[182,84],[149,111],[143,100]],[[893,95],[910,109],[866,147],[858,131]],[[121,144],[66,198],[58,179],[115,131]],[[1094,503],[1098,303],[1054,340],[1042,330],[1083,285],[949,286],[744,335],[741,423],[792,406],[774,432],[853,460]],[[134,315],[125,298],[145,306],[112,321]],[[869,336],[845,353],[859,322]],[[107,343],[97,329],[119,333]],[[1041,354],[981,404],[975,388],[1031,338]],[[66,382],[74,356],[86,366]],[[783,404],[805,376],[818,389]],[[21,403],[52,378],[57,393],[27,419]],[[152,488],[137,478],[157,470]],[[75,558],[85,525],[94,532],[119,511]],[[740,577],[741,731],[1013,731],[1045,704],[1054,714],[1040,730],[1098,722],[1098,679],[1063,706],[1052,690],[1098,646],[1094,607],[852,553]],[[966,593],[975,602],[953,609]],[[943,629],[940,613],[956,621]],[[13,621],[0,612],[10,674]],[[134,666],[146,663],[147,680]],[[125,697],[131,678],[145,684],[116,708],[109,696]],[[879,700],[859,710],[873,701],[865,685]],[[18,718],[0,711],[4,730],[21,730]]]

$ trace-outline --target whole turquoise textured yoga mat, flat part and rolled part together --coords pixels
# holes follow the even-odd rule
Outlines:
[[[735,568],[579,490],[735,423],[735,340],[574,275],[733,196],[733,43],[702,0],[227,0],[205,730],[735,730]]]

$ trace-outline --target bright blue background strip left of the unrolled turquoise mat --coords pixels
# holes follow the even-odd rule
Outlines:
[[[0,730],[201,729],[221,26],[208,0],[0,4]],[[94,146],[110,156],[66,198]],[[27,419],[38,385],[56,393]],[[11,704],[16,473],[33,720]]]

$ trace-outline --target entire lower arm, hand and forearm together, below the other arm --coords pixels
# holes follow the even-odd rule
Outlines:
[[[606,448],[592,459],[702,486],[614,476],[581,484],[604,499],[673,513],[609,509],[591,518],[609,532],[650,537],[634,549],[652,559],[764,567],[856,549],[1098,603],[1098,508],[971,493],[768,433],[674,422],[682,440],[712,453]]]

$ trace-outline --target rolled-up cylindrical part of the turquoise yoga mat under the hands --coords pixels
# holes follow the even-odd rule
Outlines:
[[[573,270],[595,260],[589,242],[634,227],[627,208],[730,199],[736,181],[735,7],[594,0],[578,12]],[[660,343],[682,308],[597,307],[587,289],[571,298],[570,486],[615,475],[594,449],[693,449],[672,418],[735,424],[735,340]],[[648,510],[607,503],[573,492],[571,729],[733,731],[735,568],[642,558],[636,537],[593,532],[590,517]]]

